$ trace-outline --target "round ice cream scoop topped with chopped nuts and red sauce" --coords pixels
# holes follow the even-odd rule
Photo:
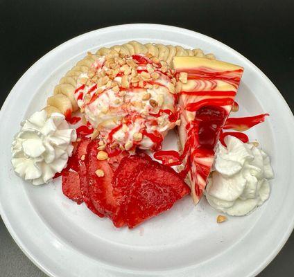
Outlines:
[[[77,80],[75,98],[94,136],[121,150],[157,150],[180,124],[175,78],[152,55],[109,54]]]

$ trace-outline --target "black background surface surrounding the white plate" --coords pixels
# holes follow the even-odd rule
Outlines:
[[[127,23],[179,26],[220,40],[266,73],[294,110],[292,0],[0,0],[0,106],[21,75],[52,48],[90,30]],[[294,276],[293,260],[292,234],[259,276]],[[2,221],[0,276],[45,276],[24,256]]]

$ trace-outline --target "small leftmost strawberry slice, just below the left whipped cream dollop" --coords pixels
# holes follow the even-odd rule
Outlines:
[[[67,171],[62,173],[62,192],[74,202],[78,204],[83,203],[78,172]]]

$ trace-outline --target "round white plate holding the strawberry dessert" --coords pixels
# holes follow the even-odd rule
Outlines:
[[[15,176],[10,143],[21,120],[44,107],[64,73],[87,51],[129,40],[202,48],[245,68],[239,115],[268,112],[250,132],[270,154],[275,170],[266,204],[247,217],[216,224],[205,199],[186,197],[170,211],[133,230],[115,229],[84,204],[62,195],[60,181],[35,187]],[[254,276],[273,260],[293,230],[293,114],[275,86],[254,64],[205,35],[153,24],[95,30],[58,46],[17,82],[0,116],[0,210],[19,247],[49,276]],[[175,145],[170,134],[166,147]]]

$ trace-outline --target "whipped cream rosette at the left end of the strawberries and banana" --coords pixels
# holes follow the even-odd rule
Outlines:
[[[63,114],[37,111],[21,123],[12,142],[12,166],[25,180],[34,185],[51,181],[55,173],[67,166],[76,141],[76,129],[71,129]]]

